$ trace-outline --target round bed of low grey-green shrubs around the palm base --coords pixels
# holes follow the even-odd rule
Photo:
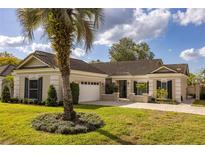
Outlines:
[[[77,134],[94,131],[104,125],[96,114],[79,112],[74,121],[64,121],[62,113],[47,113],[32,121],[32,127],[50,133]]]

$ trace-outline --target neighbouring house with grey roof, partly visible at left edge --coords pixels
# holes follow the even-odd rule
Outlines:
[[[0,94],[2,93],[2,90],[5,85],[5,77],[7,75],[10,75],[11,72],[15,69],[15,66],[12,64],[2,65],[0,66]],[[10,89],[11,90],[11,89]],[[11,90],[12,91],[12,90]]]

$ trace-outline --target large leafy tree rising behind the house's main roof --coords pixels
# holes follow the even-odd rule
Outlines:
[[[131,38],[122,38],[109,49],[111,61],[132,61],[138,59],[153,59],[154,53],[150,51],[147,43],[136,44]]]

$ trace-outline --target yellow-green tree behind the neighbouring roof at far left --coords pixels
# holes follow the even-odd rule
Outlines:
[[[20,61],[21,61],[20,59],[8,53],[7,51],[0,53],[0,65],[7,65],[7,64],[18,65]]]

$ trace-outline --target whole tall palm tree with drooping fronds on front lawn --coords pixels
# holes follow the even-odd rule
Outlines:
[[[47,34],[58,59],[63,82],[64,120],[75,119],[70,89],[70,55],[74,46],[83,43],[88,51],[94,31],[102,21],[101,9],[18,9],[17,16],[24,36],[34,38],[34,30],[41,26]]]

